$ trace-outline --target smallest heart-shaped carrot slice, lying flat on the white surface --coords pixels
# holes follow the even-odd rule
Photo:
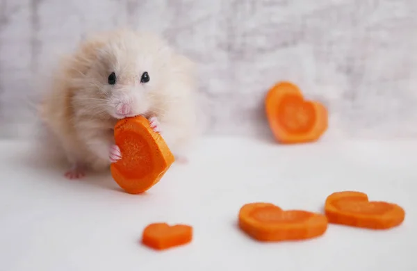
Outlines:
[[[149,224],[142,233],[142,243],[154,249],[167,249],[190,243],[193,227],[184,224],[170,226],[167,223]]]

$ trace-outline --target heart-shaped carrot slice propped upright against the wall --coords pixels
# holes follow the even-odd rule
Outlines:
[[[268,91],[265,111],[275,139],[284,144],[316,141],[327,130],[325,106],[305,101],[297,85],[290,82],[277,83]]]

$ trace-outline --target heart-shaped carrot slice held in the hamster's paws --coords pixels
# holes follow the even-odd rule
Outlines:
[[[131,194],[152,188],[175,160],[162,136],[142,116],[117,122],[115,144],[120,147],[122,159],[111,164],[111,174]]]

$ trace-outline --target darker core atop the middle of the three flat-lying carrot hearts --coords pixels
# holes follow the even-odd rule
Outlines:
[[[292,223],[307,220],[311,214],[302,211],[281,211],[273,206],[256,208],[250,214],[255,220],[263,223]]]

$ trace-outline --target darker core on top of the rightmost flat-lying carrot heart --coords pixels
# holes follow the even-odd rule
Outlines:
[[[332,204],[340,211],[366,215],[383,215],[393,208],[392,204],[386,202],[352,201],[348,199],[340,199]]]

